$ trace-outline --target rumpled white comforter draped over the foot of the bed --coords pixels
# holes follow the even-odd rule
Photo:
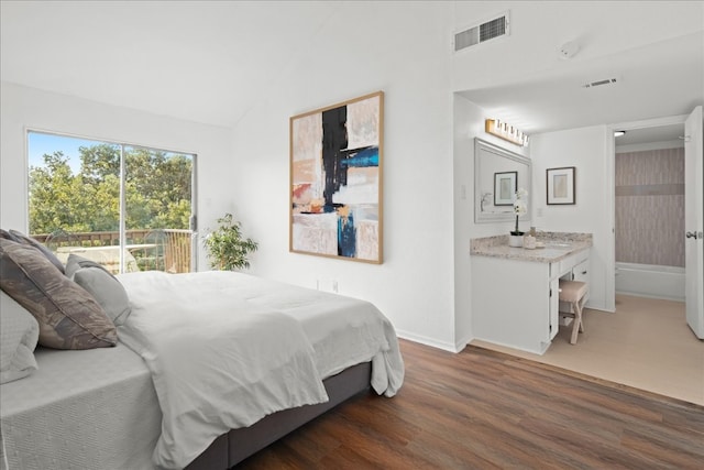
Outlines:
[[[150,368],[164,414],[154,461],[183,468],[219,435],[327,401],[321,379],[372,360],[372,386],[404,379],[398,341],[370,303],[233,272],[129,273],[118,332]]]

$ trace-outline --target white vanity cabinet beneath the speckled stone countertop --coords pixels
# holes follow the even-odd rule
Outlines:
[[[559,328],[560,277],[581,275],[584,263],[588,265],[590,249],[544,250],[539,258],[526,253],[525,259],[520,252],[534,250],[517,250],[508,251],[510,258],[473,253],[473,335],[475,339],[542,354]]]

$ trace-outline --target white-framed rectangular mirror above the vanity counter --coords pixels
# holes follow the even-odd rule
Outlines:
[[[520,220],[530,220],[531,168],[530,159],[475,138],[474,221],[515,221],[513,201],[520,188],[528,193],[528,211]]]

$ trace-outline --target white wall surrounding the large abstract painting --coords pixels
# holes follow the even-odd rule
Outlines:
[[[341,14],[355,25],[354,40],[323,41],[279,70],[278,86],[233,133],[232,196],[260,242],[253,273],[314,288],[320,281],[328,291],[336,281],[341,294],[373,302],[399,336],[453,350],[449,10],[393,3],[369,14],[350,2]],[[337,37],[341,20],[320,36]],[[385,92],[383,264],[289,253],[289,118],[377,90]]]

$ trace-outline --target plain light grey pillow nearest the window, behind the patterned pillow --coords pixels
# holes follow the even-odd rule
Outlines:
[[[69,254],[66,276],[94,296],[114,326],[124,324],[132,311],[130,299],[120,281],[108,270],[95,261]]]

